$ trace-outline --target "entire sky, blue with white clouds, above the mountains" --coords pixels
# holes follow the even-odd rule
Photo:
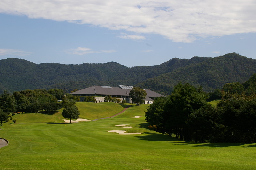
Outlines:
[[[1,0],[0,59],[152,66],[231,52],[256,59],[254,0]]]

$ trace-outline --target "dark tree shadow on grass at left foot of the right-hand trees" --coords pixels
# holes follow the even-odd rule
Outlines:
[[[140,136],[135,136],[137,139],[146,140],[146,141],[177,141],[176,138],[170,137],[164,134],[144,132]]]

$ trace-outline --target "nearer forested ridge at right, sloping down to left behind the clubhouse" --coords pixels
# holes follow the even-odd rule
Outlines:
[[[256,73],[255,59],[229,53],[208,58],[201,63],[179,67],[138,85],[162,94],[170,94],[173,87],[182,81],[193,86],[202,86],[205,92],[212,92],[214,89],[221,89],[226,83],[244,83],[254,73]]]

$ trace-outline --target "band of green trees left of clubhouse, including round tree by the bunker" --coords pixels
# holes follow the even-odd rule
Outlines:
[[[57,102],[58,100],[62,102]],[[62,89],[27,89],[13,94],[4,90],[0,95],[0,122],[2,125],[4,121],[8,121],[9,114],[15,115],[14,112],[54,114],[63,107],[62,116],[71,122],[71,119],[79,116],[76,101],[79,101],[79,97],[64,95]]]

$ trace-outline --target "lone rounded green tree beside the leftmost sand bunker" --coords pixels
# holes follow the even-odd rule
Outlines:
[[[78,119],[80,115],[80,112],[75,104],[76,101],[74,100],[65,100],[65,103],[63,104],[64,109],[62,116],[69,119],[69,123],[71,123],[71,119]]]

